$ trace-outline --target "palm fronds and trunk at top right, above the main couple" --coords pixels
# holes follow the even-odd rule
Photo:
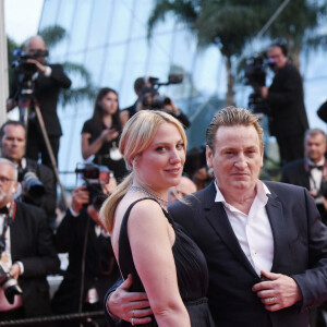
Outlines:
[[[317,35],[319,20],[326,17],[326,0],[290,1],[269,26],[270,39],[284,39],[299,58],[302,47],[326,46],[326,35]],[[148,19],[148,36],[156,24],[172,13],[196,36],[199,47],[216,45],[226,58],[227,104],[233,104],[233,62],[280,5],[276,0],[157,0]]]

